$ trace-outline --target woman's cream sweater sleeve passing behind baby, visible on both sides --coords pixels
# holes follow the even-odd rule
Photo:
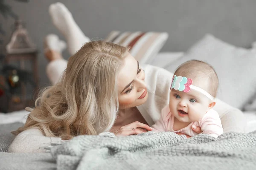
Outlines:
[[[173,74],[163,68],[152,65],[144,65],[145,82],[148,89],[148,99],[140,106],[137,106],[140,113],[150,126],[160,119],[161,110],[169,103],[170,86]],[[244,132],[245,117],[243,113],[227,103],[217,99],[214,110],[221,118],[224,133]]]

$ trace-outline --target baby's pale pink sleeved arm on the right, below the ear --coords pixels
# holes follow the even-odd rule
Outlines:
[[[219,118],[218,113],[213,109],[205,114],[199,124],[201,126],[202,133],[204,134],[217,138],[223,133],[221,119]]]

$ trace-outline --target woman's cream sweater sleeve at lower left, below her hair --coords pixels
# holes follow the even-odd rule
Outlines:
[[[44,147],[51,142],[61,141],[61,138],[47,137],[39,129],[31,128],[19,133],[8,152],[12,153],[37,153],[44,152],[40,147]]]

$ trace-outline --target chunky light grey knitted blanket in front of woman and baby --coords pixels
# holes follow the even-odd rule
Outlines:
[[[58,170],[256,170],[256,131],[184,139],[172,132],[77,136],[51,148]]]

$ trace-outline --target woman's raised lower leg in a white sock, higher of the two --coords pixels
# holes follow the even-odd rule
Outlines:
[[[49,6],[52,23],[64,35],[71,55],[75,54],[85,42],[90,39],[84,35],[73,19],[72,14],[63,3],[54,3]]]

